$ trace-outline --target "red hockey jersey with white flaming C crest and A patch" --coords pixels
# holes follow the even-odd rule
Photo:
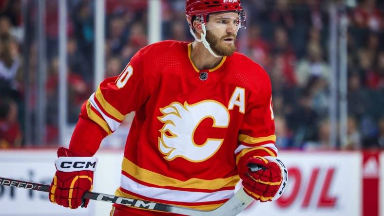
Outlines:
[[[82,109],[108,134],[136,111],[117,196],[209,211],[233,196],[241,157],[277,155],[268,74],[239,53],[199,71],[191,46],[141,49]]]

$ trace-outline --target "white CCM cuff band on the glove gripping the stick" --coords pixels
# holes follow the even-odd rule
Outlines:
[[[59,157],[55,162],[58,171],[62,172],[95,171],[96,164],[96,157]]]

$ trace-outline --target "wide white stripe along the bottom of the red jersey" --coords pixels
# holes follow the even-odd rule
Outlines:
[[[163,199],[174,202],[210,202],[231,198],[234,195],[233,190],[223,190],[207,193],[149,187],[139,184],[124,175],[121,175],[120,186],[127,191],[131,191],[144,197]]]

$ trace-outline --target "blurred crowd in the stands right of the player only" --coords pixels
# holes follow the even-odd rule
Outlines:
[[[343,14],[348,18],[347,139],[338,145],[329,143],[330,83],[337,81],[331,80],[329,64],[328,4],[320,0],[246,3],[252,12],[245,51],[269,72],[277,145],[384,148],[383,3],[362,0],[353,9],[338,10],[338,20]]]

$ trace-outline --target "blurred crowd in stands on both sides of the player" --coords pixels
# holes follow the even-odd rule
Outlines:
[[[147,42],[147,1],[106,0],[106,76],[121,72]],[[68,0],[68,122],[93,87],[94,1]],[[276,144],[281,149],[384,148],[384,5],[360,0],[344,8],[348,18],[347,142],[329,143],[329,13],[322,0],[244,0],[247,30],[238,50],[262,65],[272,82]],[[33,6],[34,5],[34,6]],[[21,0],[0,0],[0,148],[23,144],[25,71],[35,90],[37,4],[21,14]],[[162,0],[162,39],[192,41],[185,0]],[[35,26],[23,32],[30,20]],[[46,1],[47,127],[45,141],[58,142],[58,2]],[[26,37],[31,37],[25,52]],[[22,54],[28,53],[28,65]],[[28,70],[26,70],[28,69]],[[32,109],[36,97],[31,94]]]

